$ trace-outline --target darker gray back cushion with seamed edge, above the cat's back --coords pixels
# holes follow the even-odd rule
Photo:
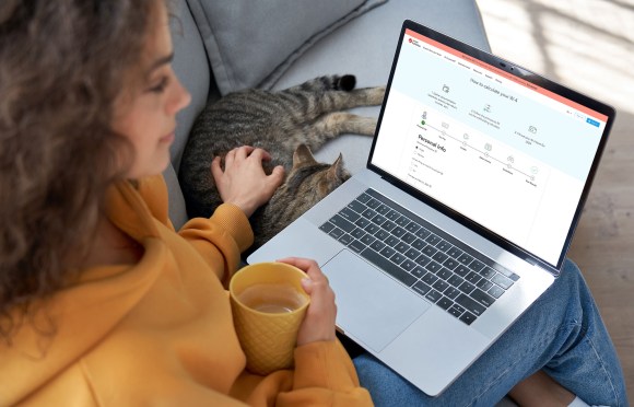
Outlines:
[[[222,94],[268,88],[313,43],[386,0],[189,0]]]

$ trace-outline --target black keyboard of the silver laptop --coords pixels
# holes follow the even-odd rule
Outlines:
[[[374,189],[319,229],[467,325],[519,279]]]

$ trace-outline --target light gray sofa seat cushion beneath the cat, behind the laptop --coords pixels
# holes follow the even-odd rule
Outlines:
[[[490,50],[473,0],[390,0],[321,38],[284,72],[274,89],[334,73],[355,74],[359,88],[385,84],[407,19]],[[424,73],[423,67],[421,74]],[[379,107],[357,107],[351,112],[377,117]],[[354,174],[365,167],[371,146],[371,137],[347,135],[329,141],[315,156],[331,163],[341,152],[345,166]]]

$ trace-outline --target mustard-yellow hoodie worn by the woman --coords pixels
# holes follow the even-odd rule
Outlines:
[[[298,347],[294,370],[245,371],[224,289],[253,242],[237,207],[176,233],[163,177],[107,199],[142,259],[85,270],[0,342],[0,406],[372,405],[339,342]]]

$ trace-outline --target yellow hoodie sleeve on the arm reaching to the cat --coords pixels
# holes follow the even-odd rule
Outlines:
[[[225,286],[240,265],[240,253],[254,242],[249,220],[232,203],[221,205],[209,219],[191,219],[178,234],[200,253]]]

